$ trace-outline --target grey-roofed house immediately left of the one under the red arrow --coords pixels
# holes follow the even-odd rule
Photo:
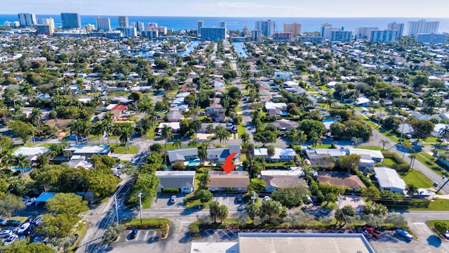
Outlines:
[[[175,188],[180,193],[192,193],[194,191],[195,171],[156,171],[159,178],[158,193],[164,188]]]

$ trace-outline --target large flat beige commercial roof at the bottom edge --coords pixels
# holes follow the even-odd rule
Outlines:
[[[214,252],[214,251],[212,251]],[[374,253],[362,234],[239,233],[240,253]]]

